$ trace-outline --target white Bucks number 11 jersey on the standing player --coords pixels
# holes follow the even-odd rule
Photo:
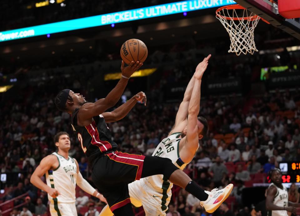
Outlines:
[[[51,203],[54,203],[54,205],[57,205],[57,203],[73,203],[76,201],[76,163],[70,156],[68,156],[68,159],[65,159],[56,152],[52,154],[57,157],[59,165],[56,169],[46,172],[46,181],[49,187],[57,189],[61,195],[57,198],[52,198],[48,194],[48,199]]]

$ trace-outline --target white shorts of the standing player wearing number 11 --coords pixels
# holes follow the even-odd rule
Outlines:
[[[77,216],[76,205],[74,203],[58,203],[54,206],[53,202],[50,203],[51,216]],[[54,208],[55,207],[55,208]],[[58,212],[60,214],[58,214]]]

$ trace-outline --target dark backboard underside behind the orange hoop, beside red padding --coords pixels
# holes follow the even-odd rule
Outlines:
[[[300,40],[300,19],[287,19],[278,12],[277,0],[234,0],[242,7],[262,17],[271,25],[282,29]],[[280,1],[280,0],[279,0]],[[300,17],[300,13],[299,13]]]

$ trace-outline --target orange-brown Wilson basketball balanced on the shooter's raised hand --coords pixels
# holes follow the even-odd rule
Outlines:
[[[131,61],[144,62],[148,56],[148,49],[145,43],[138,39],[129,39],[123,43],[120,55],[126,64]]]

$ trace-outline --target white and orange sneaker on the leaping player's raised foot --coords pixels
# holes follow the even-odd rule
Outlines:
[[[208,213],[213,213],[219,208],[222,202],[227,199],[230,195],[233,188],[233,184],[228,184],[222,190],[218,190],[217,188],[212,189],[211,192],[205,191],[208,194],[208,198],[205,201],[201,201],[200,204],[204,207],[205,211]]]

